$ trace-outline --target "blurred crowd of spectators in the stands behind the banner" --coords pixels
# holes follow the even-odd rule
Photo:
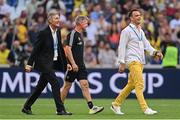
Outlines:
[[[83,33],[87,67],[116,67],[121,30],[133,8],[142,10],[142,29],[154,48],[165,54],[167,45],[174,43],[180,53],[178,0],[0,0],[0,65],[24,66],[38,31],[47,26],[47,11],[56,9],[61,15],[62,42],[77,15],[90,18]],[[161,64],[146,59],[147,64]]]

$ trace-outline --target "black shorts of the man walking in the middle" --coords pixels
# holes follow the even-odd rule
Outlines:
[[[65,81],[74,82],[75,79],[79,80],[87,80],[88,72],[86,68],[80,68],[78,72],[68,71],[65,76]]]

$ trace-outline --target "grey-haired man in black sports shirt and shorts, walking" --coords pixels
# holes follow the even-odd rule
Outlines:
[[[80,83],[84,98],[89,107],[89,114],[101,112],[104,107],[94,106],[89,92],[89,84],[87,81],[87,70],[84,64],[84,41],[81,33],[88,26],[88,18],[86,16],[77,16],[75,19],[75,29],[72,30],[65,41],[65,53],[72,66],[72,70],[68,71],[65,77],[65,84],[61,92],[62,101],[65,100],[72,82],[77,79]]]

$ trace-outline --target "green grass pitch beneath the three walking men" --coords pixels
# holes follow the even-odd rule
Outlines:
[[[53,99],[38,99],[32,107],[34,115],[21,113],[25,99],[0,99],[0,119],[180,119],[180,99],[147,99],[147,103],[158,114],[147,116],[142,113],[136,99],[127,99],[122,111],[125,115],[115,115],[111,110],[114,99],[94,99],[95,105],[105,107],[104,111],[95,115],[88,114],[88,107],[84,99],[67,99],[66,108],[72,116],[55,114]]]

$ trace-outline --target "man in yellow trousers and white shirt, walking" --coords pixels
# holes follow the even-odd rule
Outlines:
[[[119,49],[118,62],[120,63],[119,72],[123,73],[125,66],[128,66],[130,71],[128,83],[123,88],[122,92],[112,102],[111,110],[115,114],[122,115],[121,105],[130,92],[135,89],[136,97],[139,105],[146,115],[156,114],[157,111],[148,107],[144,95],[144,80],[143,80],[143,64],[145,64],[144,51],[147,51],[156,60],[162,59],[161,52],[155,50],[146,39],[145,34],[140,26],[141,12],[138,9],[133,9],[129,13],[131,20],[130,24],[122,30]]]

